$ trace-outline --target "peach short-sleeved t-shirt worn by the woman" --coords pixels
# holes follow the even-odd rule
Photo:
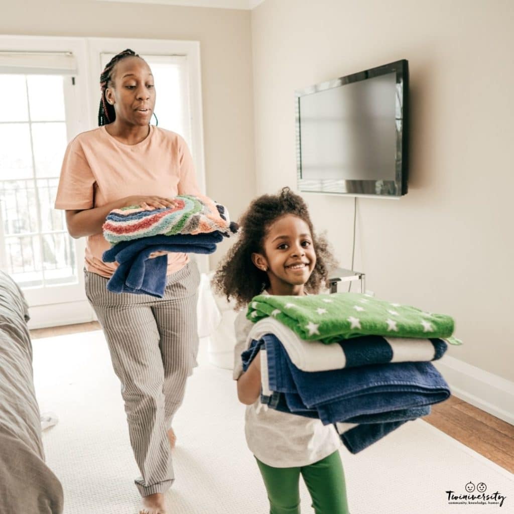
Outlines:
[[[101,126],[68,144],[54,207],[93,209],[125,196],[172,198],[177,194],[200,194],[193,160],[181,136],[150,125],[145,139],[128,145]],[[102,234],[89,235],[86,269],[111,277],[118,264],[102,262],[102,253],[109,248]],[[178,271],[188,261],[186,253],[169,253],[167,273]]]

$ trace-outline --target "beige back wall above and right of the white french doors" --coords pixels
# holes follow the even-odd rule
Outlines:
[[[0,34],[199,41],[207,193],[241,214],[255,190],[250,11],[13,1],[2,3]]]

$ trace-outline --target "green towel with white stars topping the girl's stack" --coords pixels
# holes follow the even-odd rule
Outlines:
[[[301,339],[327,344],[364,335],[448,338],[453,333],[450,316],[359,293],[254,297],[246,317],[257,322],[267,316],[287,325]]]

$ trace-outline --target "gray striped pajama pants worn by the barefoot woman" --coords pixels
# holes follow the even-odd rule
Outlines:
[[[107,280],[85,271],[95,309],[121,381],[128,432],[141,476],[142,496],[165,492],[174,481],[167,430],[197,365],[199,272],[190,262],[167,278],[163,298],[116,294]]]

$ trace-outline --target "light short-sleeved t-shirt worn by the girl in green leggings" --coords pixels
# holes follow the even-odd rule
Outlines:
[[[247,350],[247,337],[253,326],[246,319],[246,309],[237,315],[234,324],[237,343],[233,377],[237,380],[243,373],[241,354]],[[259,353],[261,358],[265,358],[263,351]],[[266,370],[266,366],[261,367]],[[341,439],[333,425],[323,425],[319,419],[270,409],[262,405],[260,398],[247,406],[245,421],[248,448],[261,462],[275,468],[308,466],[321,461],[341,446]]]

